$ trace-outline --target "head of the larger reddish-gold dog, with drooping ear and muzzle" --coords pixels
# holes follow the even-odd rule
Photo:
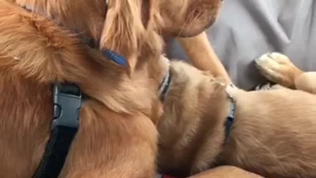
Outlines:
[[[36,13],[127,59],[132,73],[150,52],[160,53],[155,35],[191,37],[212,25],[221,0],[15,0]],[[156,33],[154,33],[155,31]]]

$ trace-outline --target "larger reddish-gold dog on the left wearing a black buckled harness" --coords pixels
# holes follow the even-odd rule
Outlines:
[[[160,33],[201,33],[220,0],[184,0],[181,18],[160,3],[0,0],[1,178],[30,178],[38,170],[51,134],[51,86],[63,82],[87,97],[60,177],[154,177],[163,109],[157,91],[168,71]],[[123,55],[126,68],[85,37]]]

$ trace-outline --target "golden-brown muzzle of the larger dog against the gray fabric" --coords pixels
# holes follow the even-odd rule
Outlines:
[[[192,37],[210,27],[221,0],[160,0],[162,32],[175,37]]]

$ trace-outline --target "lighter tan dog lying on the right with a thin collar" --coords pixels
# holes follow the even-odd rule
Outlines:
[[[161,170],[188,176],[233,165],[267,178],[316,177],[316,73],[279,53],[256,63],[268,79],[292,89],[244,91],[170,62],[158,123]]]

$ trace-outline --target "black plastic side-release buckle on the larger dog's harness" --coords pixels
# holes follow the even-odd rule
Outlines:
[[[51,129],[64,126],[79,128],[79,111],[82,93],[75,84],[54,84],[53,86],[54,119]]]

